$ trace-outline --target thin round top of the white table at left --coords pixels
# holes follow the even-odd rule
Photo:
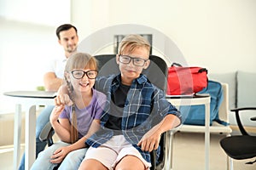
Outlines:
[[[3,93],[6,96],[22,97],[22,98],[42,98],[42,99],[54,99],[56,92],[50,91],[11,91]]]

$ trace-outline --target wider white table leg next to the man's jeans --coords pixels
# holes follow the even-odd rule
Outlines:
[[[36,158],[36,105],[26,111],[25,169],[30,169]]]

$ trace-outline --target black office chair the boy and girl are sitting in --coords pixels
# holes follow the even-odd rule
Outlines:
[[[115,54],[102,54],[96,55],[95,58],[98,60],[98,76],[106,76],[110,74],[119,73],[119,65],[116,64],[116,55]],[[147,75],[148,80],[152,82],[155,86],[162,89],[166,92],[166,77],[168,67],[164,59],[161,59],[158,56],[150,55],[150,65],[147,70],[143,71],[144,75]],[[165,93],[166,94],[166,93]],[[47,141],[50,146],[53,144],[52,136],[54,134],[54,129],[51,127],[50,123],[48,123],[43,131],[40,134],[40,139],[42,141]],[[163,133],[160,139],[160,156],[157,159],[157,151],[154,150],[150,153],[151,156],[151,170],[159,170],[163,169],[166,160],[166,135],[167,133]],[[169,141],[169,140],[168,140]]]

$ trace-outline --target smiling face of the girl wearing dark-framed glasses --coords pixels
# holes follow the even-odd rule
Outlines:
[[[67,72],[67,79],[76,93],[90,93],[96,76],[97,71],[91,69],[73,69],[73,71]]]

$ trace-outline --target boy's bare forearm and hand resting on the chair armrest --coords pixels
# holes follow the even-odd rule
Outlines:
[[[169,114],[160,123],[151,128],[148,133],[145,133],[137,145],[141,146],[141,149],[145,151],[156,150],[160,143],[161,134],[173,127],[177,127],[179,124],[180,119],[175,115]]]

